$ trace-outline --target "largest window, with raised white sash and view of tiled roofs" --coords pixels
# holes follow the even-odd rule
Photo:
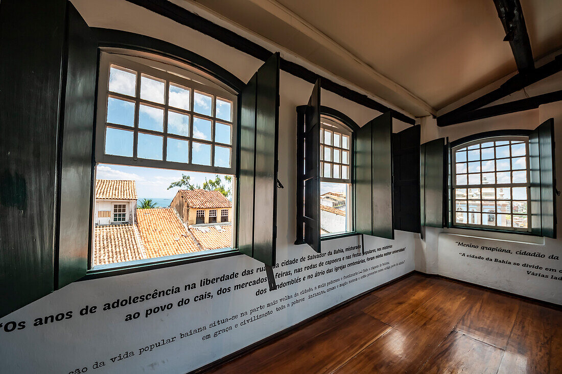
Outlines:
[[[187,66],[102,52],[93,268],[232,249],[235,108]]]

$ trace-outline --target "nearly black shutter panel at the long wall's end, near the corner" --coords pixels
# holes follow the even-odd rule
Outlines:
[[[394,228],[420,232],[420,126],[392,134]],[[414,166],[414,167],[413,167]]]

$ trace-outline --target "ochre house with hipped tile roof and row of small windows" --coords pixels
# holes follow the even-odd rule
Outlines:
[[[170,207],[187,225],[232,222],[232,203],[219,191],[179,190]]]

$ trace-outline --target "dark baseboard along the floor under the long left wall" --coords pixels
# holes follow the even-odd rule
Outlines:
[[[259,340],[259,341],[256,341],[256,343],[253,343],[253,344],[250,344],[250,345],[248,345],[248,346],[245,346],[244,348],[239,349],[239,350],[237,350],[236,352],[230,353],[229,355],[226,355],[226,356],[223,357],[223,358],[219,358],[219,359],[217,359],[216,361],[213,361],[213,362],[211,362],[211,363],[206,364],[205,366],[202,366],[202,367],[200,367],[200,368],[198,368],[198,369],[196,369],[196,370],[190,371],[190,372],[188,372],[188,374],[200,374],[200,373],[209,371],[209,370],[211,370],[211,369],[214,369],[214,368],[216,368],[216,367],[219,367],[219,366],[221,366],[221,365],[223,365],[223,364],[225,364],[225,363],[227,363],[227,362],[229,362],[229,361],[233,361],[234,359],[236,359],[236,358],[238,358],[238,357],[241,357],[241,356],[244,355],[244,354],[250,353],[250,352],[252,352],[253,350],[256,350],[257,348],[260,348],[261,346],[264,346],[264,345],[270,343],[270,341],[272,341],[272,340],[277,340],[277,339],[280,339],[280,338],[284,337],[285,335],[288,335],[288,334],[289,334],[290,332],[292,332],[293,330],[296,330],[296,329],[298,329],[299,327],[302,327],[302,326],[307,325],[307,323],[312,322],[312,320],[315,320],[315,319],[318,318],[318,317],[322,317],[322,316],[324,316],[325,314],[328,314],[329,312],[332,312],[332,311],[334,311],[334,310],[336,310],[336,309],[338,309],[338,308],[341,308],[341,307],[343,307],[344,305],[346,305],[346,304],[348,304],[348,303],[351,303],[353,300],[359,299],[360,297],[362,297],[362,296],[364,296],[364,295],[366,295],[366,294],[368,294],[368,293],[371,293],[371,292],[373,292],[374,290],[377,290],[377,289],[379,289],[379,288],[382,288],[382,287],[384,287],[384,286],[388,286],[389,284],[392,284],[392,283],[395,283],[395,282],[397,282],[397,281],[399,281],[399,280],[402,280],[402,279],[404,279],[404,278],[406,278],[406,277],[412,275],[412,274],[415,273],[415,272],[416,272],[415,270],[412,270],[412,271],[410,271],[410,272],[408,272],[408,273],[406,273],[406,274],[404,274],[404,275],[401,275],[401,276],[399,276],[399,277],[397,277],[397,278],[395,278],[395,279],[389,280],[388,282],[385,282],[385,283],[380,284],[380,285],[378,285],[378,286],[376,286],[376,287],[373,287],[373,288],[371,288],[371,289],[369,289],[369,290],[366,290],[366,291],[364,291],[364,292],[362,292],[362,293],[360,293],[360,294],[358,294],[358,295],[355,295],[354,297],[352,297],[352,298],[350,298],[350,299],[347,299],[347,300],[345,300],[345,301],[343,301],[343,302],[341,302],[341,303],[339,303],[339,304],[334,305],[333,307],[330,307],[330,308],[328,308],[328,309],[325,309],[324,311],[321,311],[320,313],[316,313],[316,314],[314,314],[314,316],[311,316],[311,317],[309,317],[309,318],[306,318],[306,320],[302,320],[301,322],[298,322],[298,323],[296,323],[295,325],[289,326],[289,327],[287,327],[287,329],[284,329],[284,330],[275,332],[275,334],[270,335],[270,336],[268,336],[268,337],[264,337],[264,339],[261,339],[261,340]]]

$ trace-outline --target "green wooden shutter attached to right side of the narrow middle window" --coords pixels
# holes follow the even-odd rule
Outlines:
[[[355,141],[355,231],[394,239],[392,218],[392,113],[357,131]]]

